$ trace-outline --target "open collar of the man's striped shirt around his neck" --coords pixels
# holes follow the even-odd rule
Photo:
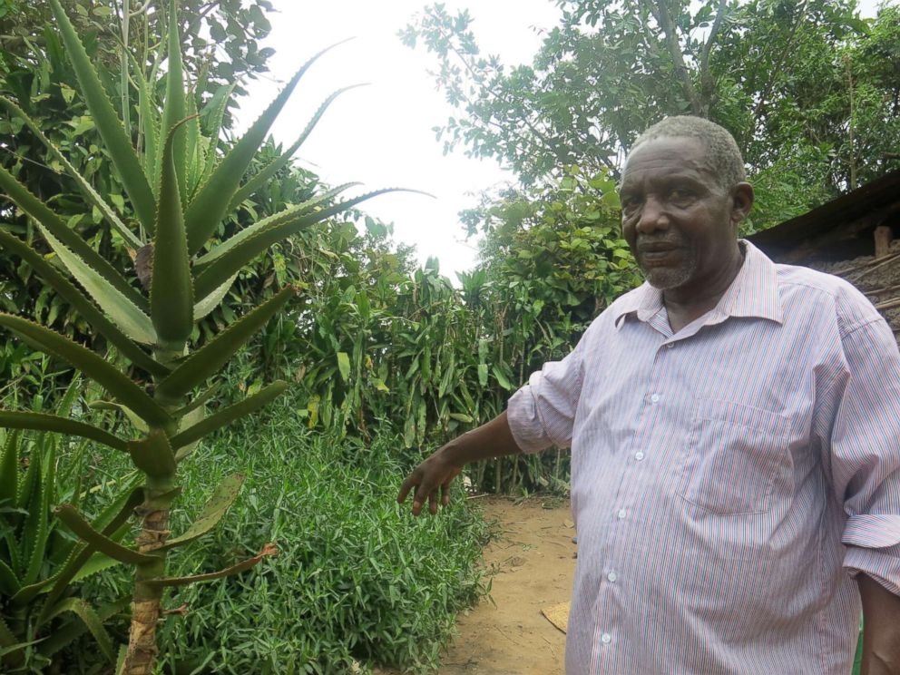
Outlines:
[[[748,240],[739,240],[739,245],[745,251],[744,264],[713,309],[711,320],[718,323],[728,317],[754,317],[781,323],[783,317],[775,263]],[[660,309],[662,291],[645,281],[621,298],[614,317],[615,326],[621,326],[621,319],[631,314],[640,321],[649,321]]]

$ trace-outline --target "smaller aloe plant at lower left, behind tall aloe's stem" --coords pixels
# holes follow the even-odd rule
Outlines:
[[[85,630],[93,633],[101,653],[113,660],[112,640],[103,621],[128,605],[126,597],[94,608],[73,594],[73,583],[118,561],[90,543],[60,533],[53,515],[59,497],[56,438],[46,431],[23,433],[16,428],[44,420],[47,426],[58,426],[57,431],[83,429],[93,434],[93,427],[66,418],[79,385],[74,379],[52,416],[40,411],[11,417],[0,413],[0,421],[14,427],[0,433],[0,664],[13,670],[46,665]],[[86,443],[78,446],[73,465],[82,464],[86,447]],[[82,496],[79,480],[72,487],[70,508],[77,508]],[[132,485],[93,520],[92,528],[113,543],[121,542],[129,530],[128,516],[141,498],[142,491]]]

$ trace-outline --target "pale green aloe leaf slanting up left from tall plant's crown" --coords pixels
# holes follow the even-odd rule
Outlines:
[[[41,223],[38,223],[37,227],[50,244],[50,248],[54,249],[54,253],[62,260],[65,268],[103,309],[103,313],[116,326],[122,328],[126,336],[144,345],[155,345],[159,341],[150,317],[103,279],[97,270],[67,249],[63,242],[56,239]]]

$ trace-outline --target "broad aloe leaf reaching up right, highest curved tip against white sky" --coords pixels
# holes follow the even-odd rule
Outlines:
[[[265,112],[259,115],[256,122],[253,122],[248,132],[225,155],[225,158],[210,175],[210,180],[204,183],[197,192],[184,215],[185,227],[188,230],[188,250],[191,251],[191,255],[200,250],[219,227],[220,221],[228,211],[231,198],[240,185],[240,179],[247,171],[250,161],[259,151],[259,146],[265,141],[272,122],[275,122],[275,118],[278,117],[285,103],[288,103],[290,94],[297,87],[300,78],[307,72],[310,65],[337,44],[326,47],[300,67]]]

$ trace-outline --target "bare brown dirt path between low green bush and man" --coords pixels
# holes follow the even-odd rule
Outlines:
[[[441,675],[563,675],[565,635],[541,610],[568,602],[575,533],[568,500],[485,497],[502,536],[484,550],[490,599],[460,615]],[[493,602],[492,602],[493,601]],[[377,670],[376,675],[396,675]]]

